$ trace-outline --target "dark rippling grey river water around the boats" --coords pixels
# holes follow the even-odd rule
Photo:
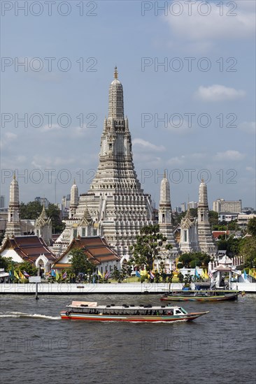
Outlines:
[[[159,305],[159,297],[1,295],[1,384],[255,383],[256,295],[180,303],[187,311],[210,311],[191,323],[59,318],[72,300]]]

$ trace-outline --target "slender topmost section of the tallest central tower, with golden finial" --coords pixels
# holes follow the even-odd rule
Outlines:
[[[108,119],[120,121],[124,119],[124,96],[122,84],[118,80],[118,68],[115,67],[114,80],[108,94]]]

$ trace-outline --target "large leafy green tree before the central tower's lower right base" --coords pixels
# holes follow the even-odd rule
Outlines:
[[[159,255],[164,242],[166,237],[159,232],[158,224],[141,228],[141,235],[136,236],[136,244],[130,247],[136,265],[140,267],[145,265],[148,272],[152,270],[154,260]]]

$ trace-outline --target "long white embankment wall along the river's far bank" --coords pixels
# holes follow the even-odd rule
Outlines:
[[[117,294],[160,294],[169,290],[169,283],[38,283],[38,294],[41,295],[79,295],[88,293]],[[182,289],[182,283],[171,283],[171,290]],[[232,289],[246,293],[256,293],[256,283],[232,283]],[[2,283],[0,294],[33,295],[36,293],[35,283]]]

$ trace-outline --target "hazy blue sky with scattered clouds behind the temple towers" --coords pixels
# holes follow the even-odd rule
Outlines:
[[[85,193],[118,66],[134,166],[159,203],[255,207],[255,1],[1,1],[1,195]],[[55,188],[56,187],[56,188]]]

